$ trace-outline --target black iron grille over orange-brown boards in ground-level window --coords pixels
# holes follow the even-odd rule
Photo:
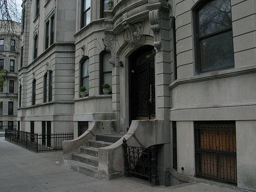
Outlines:
[[[196,175],[237,183],[235,121],[201,121],[194,126]]]

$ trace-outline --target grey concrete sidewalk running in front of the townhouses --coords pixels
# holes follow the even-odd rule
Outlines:
[[[209,183],[151,186],[136,178],[99,180],[62,166],[62,151],[35,153],[0,138],[0,191],[20,192],[235,192]]]

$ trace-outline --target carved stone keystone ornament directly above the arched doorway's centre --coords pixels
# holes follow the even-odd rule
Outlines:
[[[146,41],[146,38],[144,35],[141,34],[140,28],[142,24],[141,23],[135,23],[135,24],[124,24],[124,37],[125,41],[130,44],[131,48],[133,48],[135,45],[144,44]]]

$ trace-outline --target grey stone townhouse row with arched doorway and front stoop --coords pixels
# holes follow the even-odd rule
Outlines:
[[[64,142],[66,166],[121,177],[125,137],[131,146],[157,147],[160,184],[202,178],[256,189],[253,0],[41,0],[34,22],[38,1],[29,2],[18,119],[21,128],[35,121],[39,132],[41,121],[73,130],[75,140]],[[50,10],[54,43],[44,50]],[[44,103],[49,71],[52,101]],[[107,145],[102,138],[111,134],[118,140]]]

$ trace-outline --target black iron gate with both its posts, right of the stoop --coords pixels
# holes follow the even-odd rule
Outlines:
[[[150,181],[153,185],[159,185],[157,148],[155,146],[150,148],[128,146],[125,138],[122,147],[125,157],[125,176],[139,177]]]

